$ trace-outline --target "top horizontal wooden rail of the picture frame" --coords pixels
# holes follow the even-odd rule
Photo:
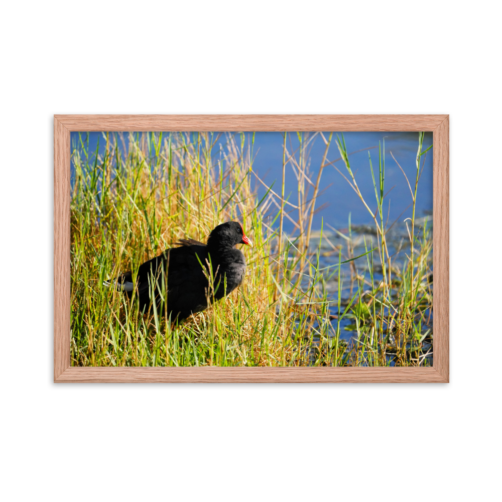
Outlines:
[[[434,131],[447,115],[54,115],[69,131]]]

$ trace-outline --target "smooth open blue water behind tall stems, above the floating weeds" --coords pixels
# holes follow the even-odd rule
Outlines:
[[[292,148],[295,150],[298,148],[299,141],[296,134],[288,136],[287,148],[291,152]],[[324,133],[324,136],[326,139],[328,138],[327,133]],[[339,136],[341,137],[341,134],[339,134]],[[333,137],[337,139],[336,134],[334,134]],[[290,138],[292,147],[289,141]],[[394,221],[394,219],[396,219],[412,202],[412,198],[408,183],[398,165],[391,157],[390,152],[392,151],[394,157],[407,174],[410,183],[412,183],[416,173],[415,159],[418,148],[418,133],[357,132],[344,133],[344,138],[348,153],[356,152],[363,148],[378,147],[379,142],[383,148],[385,140],[385,192],[393,186],[395,186],[395,188],[387,196],[384,207],[385,213],[388,213],[388,204],[390,200],[389,218],[391,221]],[[325,144],[319,135],[313,141],[314,144],[309,156],[311,161],[310,179],[315,184],[324,154]],[[283,139],[281,133],[257,133],[255,136],[255,152],[258,151],[258,154],[253,168],[258,172],[260,177],[265,177],[265,179],[262,179],[264,179],[269,186],[274,180],[277,180],[274,185],[274,190],[278,193],[282,183],[282,143]],[[426,134],[423,149],[425,150],[431,143],[432,133]],[[357,185],[370,209],[374,212],[376,209],[376,202],[369,167],[368,152],[371,155],[373,169],[376,170],[375,174],[378,176],[378,148],[354,153],[349,157],[349,162],[352,172],[355,175]],[[331,162],[339,157],[338,148],[334,144],[334,141],[332,141],[327,156],[327,162]],[[347,169],[342,160],[335,162],[334,166],[348,177]],[[321,218],[324,219],[324,222],[336,228],[346,227],[349,212],[351,212],[352,223],[370,223],[372,220],[371,215],[350,185],[343,179],[342,175],[336,171],[335,167],[328,166],[323,170],[320,188],[322,189],[330,184],[331,186],[318,197],[316,207],[321,207],[326,203],[329,205],[314,215],[312,228],[321,227]],[[292,168],[287,166],[285,195],[287,197],[287,195],[291,193],[290,200],[295,205],[298,200],[297,183]],[[313,189],[311,189],[310,193],[313,193]],[[419,211],[432,209],[432,150],[428,152],[427,158],[425,159],[424,172],[420,179],[419,191],[417,194],[417,204]],[[402,215],[402,219],[409,216],[411,216],[411,208]],[[292,224],[289,223],[287,229],[292,230]]]

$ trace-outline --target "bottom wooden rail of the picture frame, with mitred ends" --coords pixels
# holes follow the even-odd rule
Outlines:
[[[446,383],[434,368],[68,368],[57,383]]]

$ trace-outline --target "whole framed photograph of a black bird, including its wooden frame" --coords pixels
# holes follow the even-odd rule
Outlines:
[[[449,115],[54,115],[54,382],[449,383]]]

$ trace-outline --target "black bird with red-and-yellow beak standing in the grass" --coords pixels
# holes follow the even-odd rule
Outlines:
[[[244,255],[234,246],[247,244],[253,247],[253,243],[244,235],[242,225],[237,221],[218,225],[209,234],[207,244],[193,239],[179,239],[179,242],[175,244],[181,247],[166,249],[160,256],[140,266],[137,288],[133,284],[131,272],[122,274],[117,281],[117,287],[126,291],[129,298],[132,298],[137,289],[140,312],[147,312],[151,304],[152,288],[150,285],[153,284],[153,278],[156,281],[154,294],[159,311],[161,298],[158,285],[162,285],[162,269],[167,271],[167,315],[171,315],[171,321],[176,319],[182,321],[191,314],[207,308],[206,291],[212,296],[206,277],[206,275],[210,277],[208,262],[211,263],[214,278],[214,299],[223,298],[225,278],[226,294],[232,292],[244,279],[246,270]],[[205,274],[201,264],[206,269]],[[105,285],[109,286],[109,283]],[[163,308],[162,314],[164,312]]]

